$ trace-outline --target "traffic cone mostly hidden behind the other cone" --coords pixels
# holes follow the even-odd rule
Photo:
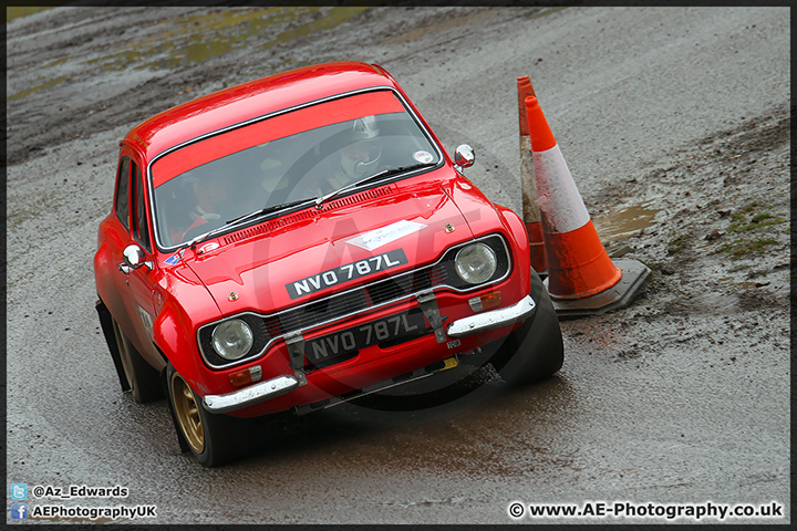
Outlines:
[[[526,97],[534,96],[534,86],[528,75],[517,79],[518,115],[520,117],[520,186],[522,189],[524,225],[529,240],[531,267],[545,275],[548,273],[542,240],[542,220],[537,205],[537,179],[531,158],[531,140],[529,139],[528,119],[526,119]]]

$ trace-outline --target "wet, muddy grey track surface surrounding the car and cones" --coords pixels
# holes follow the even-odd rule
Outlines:
[[[159,523],[508,523],[514,500],[628,499],[776,500],[788,521],[788,10],[54,8],[7,29],[9,482],[125,485]],[[651,281],[563,321],[549,382],[392,419],[344,406],[201,470],[165,404],[118,392],[93,313],[117,142],[195,95],[344,59],[385,66],[518,212],[530,75],[604,244]]]

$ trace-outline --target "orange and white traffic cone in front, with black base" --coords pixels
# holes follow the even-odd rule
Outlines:
[[[627,306],[650,269],[636,260],[612,262],[537,97],[524,104],[548,264],[546,283],[557,314],[594,315]]]

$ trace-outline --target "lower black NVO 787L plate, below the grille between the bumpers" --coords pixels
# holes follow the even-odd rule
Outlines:
[[[426,333],[420,310],[398,313],[304,343],[309,365],[325,366],[352,357],[361,348],[379,343],[407,341]]]

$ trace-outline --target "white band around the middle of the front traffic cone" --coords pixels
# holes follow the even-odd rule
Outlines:
[[[580,229],[590,221],[587,207],[576,188],[559,144],[545,152],[534,152],[537,176],[537,204],[547,233],[565,233]]]

